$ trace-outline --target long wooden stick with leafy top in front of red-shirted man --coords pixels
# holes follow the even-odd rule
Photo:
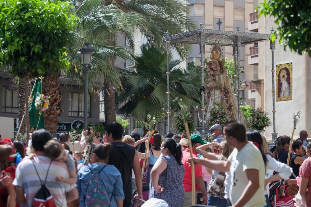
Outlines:
[[[176,100],[176,99],[175,99]],[[174,100],[174,101],[175,101]],[[190,157],[193,158],[193,154],[192,154],[192,143],[191,143],[191,139],[190,139],[190,132],[189,132],[189,127],[188,127],[188,123],[187,123],[187,117],[186,117],[186,112],[187,112],[187,108],[186,106],[183,104],[182,99],[180,99],[179,101],[179,106],[181,109],[181,112],[183,114],[183,124],[185,125],[185,129],[186,129],[186,135],[187,135],[187,139],[189,142],[189,151],[190,151]],[[192,181],[192,205],[196,204],[196,197],[195,197],[195,174],[194,174],[194,164],[193,164],[193,160],[191,160],[191,181]]]

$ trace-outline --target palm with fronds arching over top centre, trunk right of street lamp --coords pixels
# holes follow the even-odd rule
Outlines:
[[[188,10],[185,4],[178,0],[107,0],[107,3],[117,4],[121,10],[129,13],[137,13],[143,16],[144,21],[137,26],[138,31],[147,39],[149,44],[155,44],[156,47],[165,50],[162,38],[165,32],[169,34],[178,34],[185,30],[194,29],[195,25],[187,18]],[[126,33],[125,33],[126,34]],[[134,50],[134,41],[126,36],[128,48]],[[112,41],[114,42],[114,41]],[[182,59],[187,57],[190,50],[188,44],[172,43]],[[105,82],[104,88],[109,88],[112,83]],[[115,121],[115,100],[114,92],[104,93],[105,100],[105,120],[106,123]]]

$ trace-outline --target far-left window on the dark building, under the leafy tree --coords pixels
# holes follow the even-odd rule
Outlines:
[[[2,87],[2,112],[18,113],[18,90],[9,91]]]

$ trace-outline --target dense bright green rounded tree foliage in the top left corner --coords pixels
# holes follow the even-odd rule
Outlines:
[[[66,47],[72,42],[76,18],[61,1],[0,2],[0,64],[25,77],[55,74],[68,67]]]

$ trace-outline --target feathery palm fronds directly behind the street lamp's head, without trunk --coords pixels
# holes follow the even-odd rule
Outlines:
[[[85,42],[90,43],[94,49],[88,74],[90,91],[102,88],[102,85],[98,83],[109,80],[119,92],[122,89],[121,74],[118,68],[114,67],[111,58],[114,59],[119,56],[124,59],[131,59],[131,51],[126,47],[114,45],[114,42],[111,44],[109,41],[115,39],[118,34],[126,34],[128,38],[133,38],[136,32],[135,28],[142,24],[142,17],[136,13],[126,13],[114,4],[105,5],[103,0],[84,1],[81,7],[75,6],[71,12],[79,20],[74,27],[73,46],[69,48],[71,67],[62,72],[67,75],[70,81],[77,81],[83,85],[84,68],[79,50]]]

